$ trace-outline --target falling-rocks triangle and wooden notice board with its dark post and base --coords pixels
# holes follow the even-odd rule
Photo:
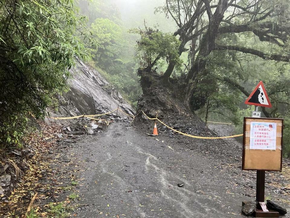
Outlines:
[[[272,107],[260,81],[245,104],[255,105],[252,117],[244,117],[243,170],[257,170],[255,217],[279,217],[265,204],[265,171],[282,171],[283,119],[260,118],[259,106]],[[255,112],[255,113],[254,113]]]

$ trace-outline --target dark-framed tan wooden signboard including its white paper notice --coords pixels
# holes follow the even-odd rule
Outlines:
[[[244,117],[243,170],[282,171],[283,119]]]

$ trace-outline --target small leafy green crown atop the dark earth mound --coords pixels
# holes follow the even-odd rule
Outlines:
[[[153,67],[159,59],[167,63],[172,61],[176,68],[181,67],[178,47],[180,41],[171,33],[163,33],[158,29],[147,28],[144,30],[133,29],[132,33],[139,33],[141,39],[137,41],[137,59],[140,67]]]

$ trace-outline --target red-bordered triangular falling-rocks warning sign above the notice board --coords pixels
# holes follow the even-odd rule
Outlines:
[[[254,91],[250,94],[250,96],[245,101],[245,104],[261,106],[261,107],[272,107],[272,104],[269,100],[268,94],[264,87],[262,81],[258,83]]]

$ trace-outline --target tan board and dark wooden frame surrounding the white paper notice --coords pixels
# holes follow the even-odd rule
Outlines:
[[[249,122],[277,123],[276,150],[250,149]],[[283,119],[244,117],[242,170],[282,171]]]

